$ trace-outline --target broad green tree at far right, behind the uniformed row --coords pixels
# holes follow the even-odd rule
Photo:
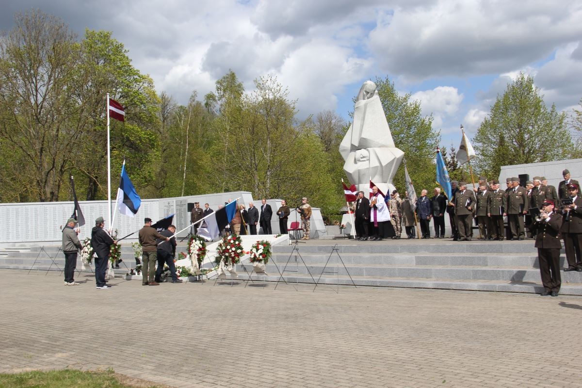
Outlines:
[[[533,77],[520,73],[498,95],[473,139],[481,175],[499,176],[501,166],[569,158],[574,145],[566,114],[548,110]]]

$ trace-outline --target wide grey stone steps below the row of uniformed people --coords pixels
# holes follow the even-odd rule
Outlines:
[[[251,279],[276,282],[281,271],[290,283],[313,284],[315,280],[351,285],[353,281],[357,286],[538,293],[542,287],[533,245],[532,240],[310,240],[275,245],[267,265],[269,275],[253,273]],[[65,260],[58,250],[58,246],[4,248],[0,250],[0,269],[62,270]],[[186,251],[185,243],[178,245],[180,251]],[[122,259],[127,267],[135,266],[131,247],[122,247]],[[562,254],[560,264],[564,262]],[[124,263],[120,266],[115,272],[123,275],[127,268]],[[77,271],[81,268],[79,261]],[[236,266],[239,280],[249,279],[252,270],[249,261]],[[582,272],[562,272],[560,294],[582,295]]]

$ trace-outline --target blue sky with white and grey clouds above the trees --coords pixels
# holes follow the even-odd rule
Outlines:
[[[232,69],[247,91],[276,76],[298,118],[332,110],[349,121],[361,84],[393,81],[434,117],[441,145],[471,138],[520,72],[548,108],[582,98],[579,0],[19,0],[2,1],[0,30],[38,8],[83,36],[112,31],[134,67],[179,104],[214,91]]]

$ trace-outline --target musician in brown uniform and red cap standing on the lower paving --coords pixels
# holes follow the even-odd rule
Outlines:
[[[560,229],[562,216],[555,213],[553,200],[542,202],[540,221],[537,223],[538,233],[535,236],[535,247],[538,248],[538,263],[544,291],[542,296],[557,297],[562,284],[560,276]]]

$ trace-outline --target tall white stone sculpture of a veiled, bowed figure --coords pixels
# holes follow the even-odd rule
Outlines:
[[[339,145],[343,170],[357,189],[368,195],[370,180],[388,195],[404,152],[396,148],[376,84],[365,81],[354,108],[354,121]]]

